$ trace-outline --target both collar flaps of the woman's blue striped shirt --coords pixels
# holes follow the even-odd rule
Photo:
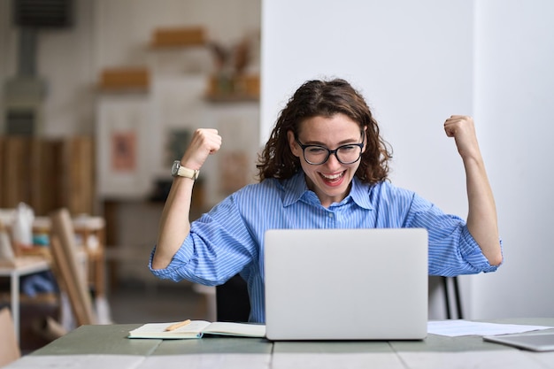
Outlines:
[[[283,199],[284,206],[295,204],[303,197],[310,203],[314,201],[319,203],[318,197],[306,185],[303,171],[298,171],[298,173],[289,178],[289,180],[282,181],[282,186],[285,191],[285,197]],[[369,191],[370,186],[368,184],[362,183],[358,180],[358,177],[354,177],[352,180],[352,187],[350,188],[350,194],[346,196],[341,203],[346,204],[351,198],[351,201],[358,204],[359,207],[368,210],[373,209],[369,201]]]

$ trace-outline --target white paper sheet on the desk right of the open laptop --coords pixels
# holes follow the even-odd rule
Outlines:
[[[447,335],[449,337],[457,337],[459,335],[513,334],[549,328],[554,327],[483,323],[464,319],[432,320],[427,323],[427,333]]]

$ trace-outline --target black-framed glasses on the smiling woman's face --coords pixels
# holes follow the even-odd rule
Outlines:
[[[304,153],[304,160],[308,164],[322,165],[329,157],[335,154],[335,158],[341,164],[353,164],[356,163],[359,158],[362,157],[362,149],[364,149],[364,133],[362,132],[361,143],[348,143],[346,145],[339,146],[335,150],[329,150],[325,146],[321,145],[304,145],[304,143],[298,141],[298,137],[295,137],[296,143],[302,148]]]

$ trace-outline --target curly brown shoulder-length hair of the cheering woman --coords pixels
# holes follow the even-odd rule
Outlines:
[[[377,121],[365,103],[364,97],[349,82],[307,81],[290,97],[273,127],[265,149],[258,156],[258,179],[285,180],[297,173],[300,159],[289,148],[287,132],[298,134],[300,123],[313,117],[332,117],[344,114],[365,128],[365,151],[362,154],[356,176],[370,184],[385,181],[389,175],[389,159],[392,149],[379,131]]]

